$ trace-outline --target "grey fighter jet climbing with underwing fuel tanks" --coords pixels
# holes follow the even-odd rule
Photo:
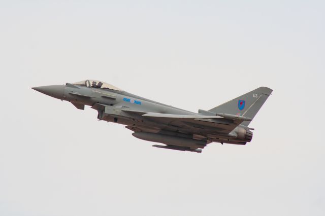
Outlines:
[[[69,101],[79,110],[88,105],[98,112],[99,120],[126,125],[133,136],[164,144],[153,147],[197,153],[211,142],[250,142],[254,129],[248,125],[273,91],[259,87],[211,110],[193,113],[96,80],[32,89]]]

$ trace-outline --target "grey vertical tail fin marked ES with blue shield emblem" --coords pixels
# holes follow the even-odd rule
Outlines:
[[[209,112],[245,116],[253,119],[259,109],[261,109],[264,102],[271,95],[272,91],[273,90],[268,87],[259,87],[251,92],[214,107],[209,110]],[[244,121],[242,125],[248,126],[249,123],[249,121]]]

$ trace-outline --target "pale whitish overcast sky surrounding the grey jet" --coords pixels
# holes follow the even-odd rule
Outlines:
[[[324,215],[323,1],[2,1],[0,215]],[[273,94],[246,146],[157,149],[30,87],[197,112]]]

